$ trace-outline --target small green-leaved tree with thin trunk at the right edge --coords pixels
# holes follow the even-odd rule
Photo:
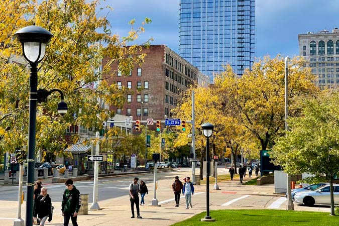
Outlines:
[[[323,92],[300,101],[301,116],[288,120],[291,131],[277,140],[271,156],[285,172],[325,176],[330,184],[334,215],[333,177],[339,172],[339,92]],[[310,179],[310,178],[308,178]]]

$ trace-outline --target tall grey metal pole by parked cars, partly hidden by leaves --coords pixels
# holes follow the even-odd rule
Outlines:
[[[288,60],[289,57],[285,57],[285,136],[287,136],[288,125],[287,125],[287,117],[288,117]],[[291,193],[291,175],[287,174],[287,210],[294,210],[294,204],[292,201],[292,193]]]

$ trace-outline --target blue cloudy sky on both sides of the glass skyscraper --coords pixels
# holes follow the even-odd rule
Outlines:
[[[126,36],[131,29],[129,21],[136,19],[137,28],[147,17],[152,23],[144,26],[145,33],[137,43],[153,38],[152,45],[165,44],[179,53],[179,3],[180,0],[106,0],[101,7],[114,9],[107,16],[112,33]],[[339,28],[338,12],[339,0],[256,0],[255,57],[298,56],[298,34]]]

